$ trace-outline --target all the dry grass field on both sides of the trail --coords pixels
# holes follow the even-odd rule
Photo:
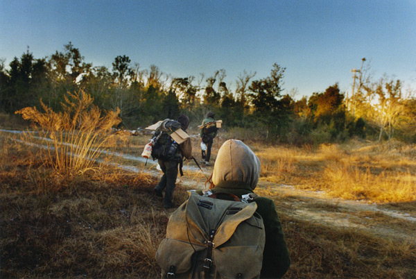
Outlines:
[[[223,140],[214,145],[214,158]],[[137,146],[141,144],[130,144],[140,149]],[[198,140],[193,139],[193,144],[197,146]],[[0,146],[1,278],[159,277],[155,251],[166,233],[171,211],[162,210],[162,201],[153,195],[157,178],[104,165],[78,176],[61,176],[44,164],[35,147],[22,148],[1,134]],[[326,181],[360,185],[394,181],[399,174],[403,174],[403,181],[415,176],[413,146],[250,146],[261,158],[266,173],[261,179],[277,183],[330,189],[333,183]],[[196,155],[199,149],[194,148]],[[185,190],[178,185],[175,205],[184,201]],[[266,190],[260,194],[273,198],[279,211],[292,260],[285,278],[416,277],[414,239],[397,241],[356,228],[295,219],[288,214],[295,206],[294,197]],[[380,198],[379,194],[374,196]],[[392,196],[387,200],[397,199]],[[337,205],[317,208],[324,209],[339,210]],[[367,214],[383,221],[380,214]]]

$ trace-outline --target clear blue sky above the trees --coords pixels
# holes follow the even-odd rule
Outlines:
[[[123,55],[179,78],[224,69],[230,89],[277,63],[295,99],[335,83],[351,94],[362,58],[374,81],[387,74],[416,90],[414,0],[0,0],[6,66],[28,47],[44,58],[69,42],[109,69]]]

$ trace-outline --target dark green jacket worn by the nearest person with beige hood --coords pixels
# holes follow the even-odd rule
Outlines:
[[[243,182],[221,181],[212,192],[225,192],[234,194],[241,198],[243,194],[253,193],[250,185]],[[202,194],[202,191],[200,191]],[[291,265],[289,251],[284,240],[284,233],[281,229],[281,222],[277,216],[275,203],[270,198],[257,197],[257,212],[263,218],[266,230],[266,245],[263,251],[263,266],[261,278],[281,278]]]

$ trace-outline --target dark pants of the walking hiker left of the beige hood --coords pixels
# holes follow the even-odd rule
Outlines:
[[[163,206],[164,208],[171,208],[173,191],[176,187],[175,183],[177,178],[177,164],[179,164],[179,162],[164,161],[160,159],[158,159],[157,162],[163,171],[163,176],[160,178],[160,181],[157,183],[155,189],[157,189],[159,192],[162,192],[166,188],[163,198]]]

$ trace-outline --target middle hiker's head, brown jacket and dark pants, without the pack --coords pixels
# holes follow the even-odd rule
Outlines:
[[[189,117],[187,115],[180,115],[180,117],[177,118],[177,121],[180,123],[180,128],[182,130],[187,130],[189,126]],[[159,132],[160,133],[160,132]],[[164,136],[164,135],[162,135]],[[155,155],[155,152],[157,152],[157,149],[153,149],[152,156],[153,158],[157,158],[157,162],[159,163],[160,168],[163,171],[163,176],[160,178],[159,183],[157,183],[154,191],[156,196],[163,197],[163,191],[165,189],[165,194],[163,198],[163,206],[165,209],[172,208],[172,196],[173,191],[176,187],[176,178],[177,178],[177,171],[178,171],[178,165],[181,163],[183,158],[187,158],[188,160],[192,159],[192,145],[191,145],[191,139],[188,137],[187,140],[182,142],[182,144],[179,144],[177,146],[176,142],[173,142],[171,140],[170,136],[167,135],[166,139],[168,141],[172,141],[172,146],[168,146],[168,150],[173,150],[173,154],[166,155]],[[164,147],[166,149],[166,147]]]

